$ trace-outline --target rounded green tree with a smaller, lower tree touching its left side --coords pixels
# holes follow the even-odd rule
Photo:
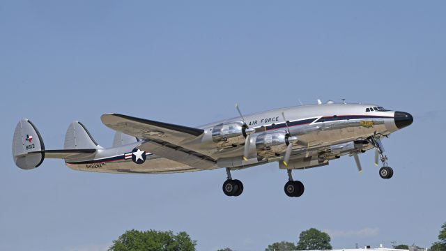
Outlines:
[[[330,250],[331,238],[327,233],[311,228],[299,235],[298,250]]]

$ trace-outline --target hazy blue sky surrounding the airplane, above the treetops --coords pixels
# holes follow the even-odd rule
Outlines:
[[[0,250],[104,250],[127,229],[187,231],[198,250],[263,250],[328,231],[334,248],[436,241],[446,221],[444,1],[2,1]],[[410,112],[385,139],[394,177],[373,153],[295,172],[277,163],[167,175],[75,172],[61,160],[15,167],[15,124],[28,118],[47,149],[71,121],[102,146],[119,112],[197,126],[266,109],[346,98]]]

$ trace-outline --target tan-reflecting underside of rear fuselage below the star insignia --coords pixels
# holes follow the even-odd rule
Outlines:
[[[165,158],[147,159],[142,164],[137,164],[129,159],[116,162],[66,163],[66,165],[79,171],[114,174],[168,174],[200,170]]]

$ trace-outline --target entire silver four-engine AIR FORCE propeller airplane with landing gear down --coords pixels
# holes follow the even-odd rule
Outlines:
[[[413,123],[407,112],[378,105],[329,100],[239,116],[204,126],[188,127],[139,119],[123,114],[103,114],[102,123],[115,130],[113,146],[100,146],[83,123],[68,126],[63,149],[47,150],[36,126],[21,119],[13,137],[13,159],[21,169],[34,169],[45,158],[63,159],[79,171],[116,174],[167,174],[217,168],[226,169],[223,192],[239,196],[243,183],[231,171],[279,162],[288,173],[284,191],[300,197],[305,187],[293,180],[292,170],[328,165],[330,160],[375,149],[383,167],[381,178],[392,178],[381,139]]]

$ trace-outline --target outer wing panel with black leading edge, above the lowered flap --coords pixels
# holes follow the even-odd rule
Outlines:
[[[105,126],[118,132],[123,132],[139,139],[160,139],[171,144],[195,139],[204,132],[204,130],[198,128],[139,119],[123,114],[103,114],[100,119]]]

